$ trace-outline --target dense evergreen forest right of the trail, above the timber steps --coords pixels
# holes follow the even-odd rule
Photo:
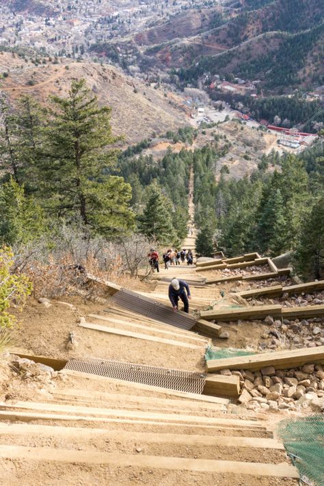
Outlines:
[[[323,140],[299,156],[264,155],[258,170],[239,181],[226,171],[215,181],[215,163],[214,154],[195,164],[198,253],[211,255],[213,238],[228,256],[293,251],[299,274],[323,278]]]

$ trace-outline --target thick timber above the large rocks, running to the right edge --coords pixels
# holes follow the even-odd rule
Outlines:
[[[209,373],[223,370],[260,370],[266,366],[274,366],[281,370],[288,365],[303,366],[305,363],[324,363],[324,346],[317,348],[302,348],[272,353],[259,353],[258,355],[238,356],[226,359],[211,359],[206,361],[206,369]]]

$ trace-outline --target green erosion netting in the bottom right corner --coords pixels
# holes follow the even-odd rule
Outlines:
[[[299,470],[301,484],[324,486],[324,415],[282,420],[278,433]]]

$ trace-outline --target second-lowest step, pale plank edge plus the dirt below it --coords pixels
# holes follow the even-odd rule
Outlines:
[[[108,431],[38,425],[0,425],[3,445],[66,448],[122,454],[157,455],[199,459],[228,459],[281,463],[286,461],[284,446],[275,439],[247,437],[206,437],[176,433]]]

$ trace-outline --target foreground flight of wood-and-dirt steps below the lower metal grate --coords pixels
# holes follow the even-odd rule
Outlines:
[[[1,484],[297,485],[267,422],[220,405],[63,370],[51,394],[0,405]]]

